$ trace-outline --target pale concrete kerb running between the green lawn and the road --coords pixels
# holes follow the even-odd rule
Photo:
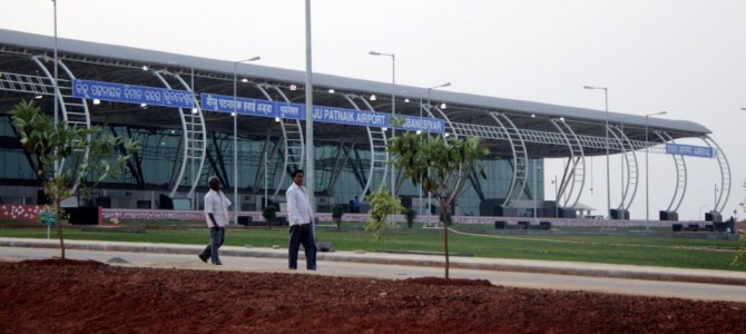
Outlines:
[[[153,244],[153,243],[121,243],[121,242],[85,242],[66,240],[68,249],[86,250],[117,250],[117,252],[145,252],[167,254],[197,254],[202,245],[177,245],[177,244]],[[0,238],[0,246],[4,247],[38,247],[57,248],[57,239],[26,239],[26,238]],[[301,252],[300,257],[303,257]],[[271,257],[287,258],[286,248],[254,248],[224,246],[220,254],[225,256],[241,257]],[[381,254],[381,253],[355,253],[332,252],[318,253],[318,261],[353,262],[383,265],[406,265],[442,267],[444,258],[442,255],[418,255],[418,254]],[[554,275],[575,275],[590,277],[615,277],[647,281],[670,281],[688,283],[707,283],[725,285],[746,286],[746,273],[708,269],[685,269],[632,265],[610,265],[577,262],[530,261],[530,259],[505,259],[505,258],[479,258],[479,257],[451,257],[451,268],[539,273]]]

